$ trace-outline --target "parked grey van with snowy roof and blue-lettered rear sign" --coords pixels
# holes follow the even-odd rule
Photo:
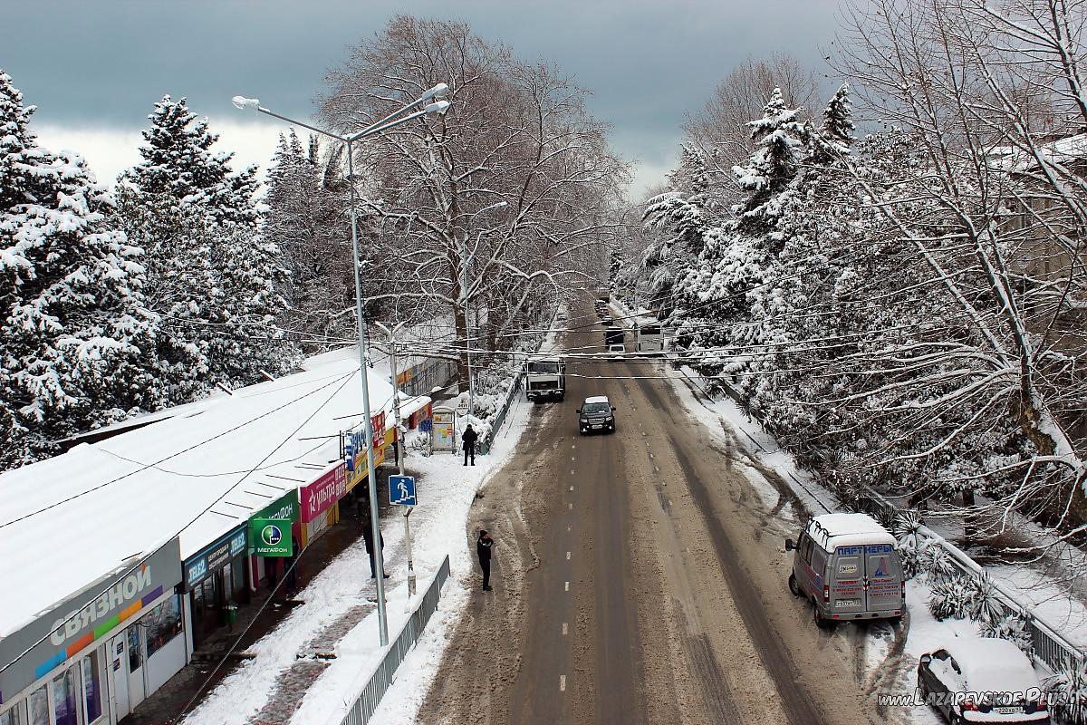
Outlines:
[[[789,590],[814,607],[815,624],[842,620],[901,621],[905,579],[895,537],[863,513],[814,516],[799,540],[785,539],[796,551]]]

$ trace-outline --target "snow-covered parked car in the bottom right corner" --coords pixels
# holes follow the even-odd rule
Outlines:
[[[1007,639],[949,637],[921,655],[921,699],[949,723],[1049,723],[1030,660]]]

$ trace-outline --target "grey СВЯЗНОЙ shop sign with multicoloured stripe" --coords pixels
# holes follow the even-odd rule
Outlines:
[[[0,638],[0,704],[138,616],[180,580],[177,537]]]

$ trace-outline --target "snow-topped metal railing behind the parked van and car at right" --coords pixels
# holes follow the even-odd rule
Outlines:
[[[867,509],[867,513],[886,520],[889,516],[897,516],[902,512],[900,508],[888,501],[878,491],[871,488],[866,490],[869,496],[864,499],[866,504],[864,508]],[[933,541],[944,549],[945,553],[948,554],[951,565],[962,576],[976,579],[985,572],[985,567],[971,559],[966,552],[927,526],[921,526],[917,529],[917,534],[925,541]],[[1034,657],[1045,664],[1050,672],[1055,673],[1062,667],[1073,664],[1082,666],[1084,662],[1087,662],[1087,652],[1083,648],[1065,639],[1057,627],[1038,616],[1032,607],[1020,602],[999,582],[991,578],[990,580],[997,590],[1003,613],[1005,615],[1017,614],[1023,616],[1026,623],[1026,632],[1030,635],[1030,640],[1034,643]]]

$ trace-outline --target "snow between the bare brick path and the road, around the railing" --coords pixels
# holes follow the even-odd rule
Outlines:
[[[442,589],[438,611],[430,618],[418,643],[400,665],[396,680],[385,695],[371,723],[402,725],[414,722],[415,714],[437,673],[449,637],[452,636],[459,613],[467,604],[475,586],[474,577],[477,572],[474,551],[464,529],[468,509],[476,491],[487,478],[501,470],[513,455],[528,423],[530,411],[532,405],[518,397],[510,409],[510,414],[495,440],[490,454],[477,457],[475,467],[464,467],[460,455],[448,453],[408,459],[408,467],[422,476],[418,484],[420,505],[411,516],[420,593],[422,595],[447,553],[451,573]],[[407,599],[403,555],[400,554],[391,564],[389,571],[393,574],[393,578],[390,579],[393,587],[388,608],[390,641],[407,617],[402,613]],[[393,624],[396,626],[392,626]],[[343,639],[337,652],[338,658],[310,688],[302,707],[295,713],[292,723],[310,725],[339,722],[339,717],[346,712],[343,702],[353,701],[354,693],[361,690],[370,678],[370,673],[384,657],[376,647],[376,613],[374,613]]]

